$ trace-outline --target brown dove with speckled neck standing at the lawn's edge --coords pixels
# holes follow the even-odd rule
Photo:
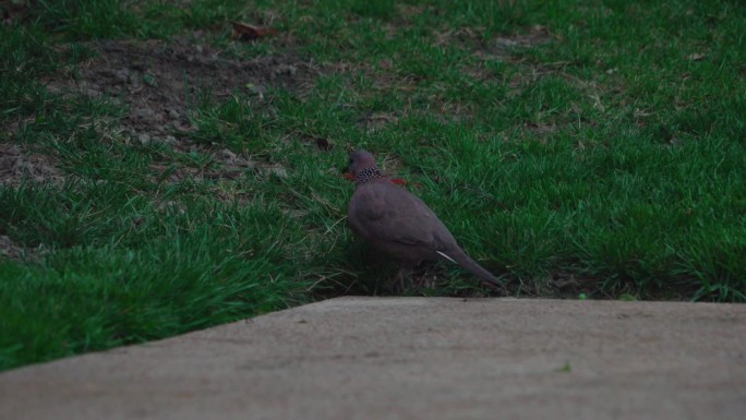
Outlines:
[[[497,277],[464,252],[435,212],[378,169],[371,153],[351,152],[346,172],[354,180],[347,224],[354,235],[399,263],[395,278],[400,287],[421,262],[446,260],[504,290]]]

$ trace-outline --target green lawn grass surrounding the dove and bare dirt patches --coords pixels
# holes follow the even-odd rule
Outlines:
[[[0,256],[0,369],[378,292],[395,267],[346,228],[348,147],[407,179],[516,296],[746,300],[738,2],[15,3],[0,145],[61,175],[0,185],[0,236],[22,250]],[[278,34],[239,41],[232,21]],[[204,92],[192,148],[139,141],[117,98],[48,82],[80,77],[101,40],[184,38],[316,73]],[[202,176],[224,148],[256,165]],[[411,293],[488,291],[443,266]]]

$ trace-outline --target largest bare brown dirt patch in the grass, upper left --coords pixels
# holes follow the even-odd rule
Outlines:
[[[233,92],[263,98],[270,87],[303,89],[316,75],[297,56],[241,60],[198,40],[104,41],[87,47],[95,57],[76,69],[76,77],[49,80],[48,87],[118,98],[129,108],[119,121],[122,132],[142,143],[175,143],[193,130],[194,103],[205,94],[213,100]]]

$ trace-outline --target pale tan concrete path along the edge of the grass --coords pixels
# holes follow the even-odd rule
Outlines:
[[[0,374],[0,419],[746,419],[746,305],[342,298]]]

